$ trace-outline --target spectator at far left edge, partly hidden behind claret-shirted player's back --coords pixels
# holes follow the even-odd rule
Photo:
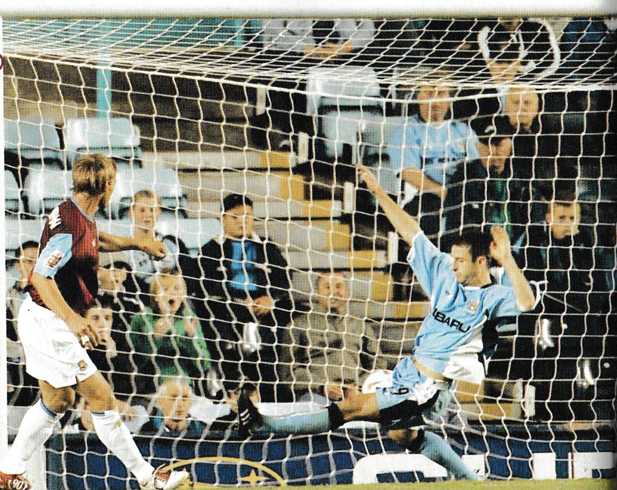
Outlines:
[[[38,394],[38,382],[24,366],[25,355],[17,335],[17,315],[22,305],[24,288],[35,267],[39,244],[28,240],[21,244],[15,254],[14,267],[19,278],[6,291],[6,349],[7,349],[7,402],[9,405],[29,406]]]

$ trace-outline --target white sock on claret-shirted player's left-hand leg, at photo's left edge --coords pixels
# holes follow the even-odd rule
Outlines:
[[[62,414],[49,410],[42,399],[32,405],[23,416],[15,441],[0,464],[0,471],[9,475],[23,473],[25,463],[49,439],[60,417]]]

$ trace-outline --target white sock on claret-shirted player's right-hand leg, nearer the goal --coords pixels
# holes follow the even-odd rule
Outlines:
[[[135,475],[139,484],[146,483],[154,468],[144,460],[139,452],[133,436],[120,420],[118,410],[93,412],[92,421],[96,435],[107,446],[107,449],[114,453],[123,465]]]

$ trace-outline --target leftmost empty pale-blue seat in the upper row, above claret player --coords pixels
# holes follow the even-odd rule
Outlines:
[[[15,154],[22,165],[64,165],[58,132],[49,121],[5,119],[4,149]]]

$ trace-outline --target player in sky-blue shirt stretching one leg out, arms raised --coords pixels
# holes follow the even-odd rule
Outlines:
[[[478,475],[466,467],[447,442],[418,426],[441,417],[452,397],[453,380],[481,383],[483,330],[489,329],[489,324],[495,325],[497,318],[531,310],[539,298],[516,266],[505,230],[494,228],[492,238],[479,231],[462,235],[450,254],[444,254],[426,238],[417,220],[379,187],[368,168],[358,165],[358,176],[411,247],[407,261],[431,298],[431,314],[420,326],[413,354],[395,367],[391,386],[377,388],[373,393],[352,394],[317,412],[284,417],[262,415],[248,394],[241,391],[239,433],[244,437],[263,433],[317,434],[351,420],[376,421],[410,452],[420,452],[455,478],[476,480]],[[488,267],[491,257],[503,267],[511,287],[492,282]]]

